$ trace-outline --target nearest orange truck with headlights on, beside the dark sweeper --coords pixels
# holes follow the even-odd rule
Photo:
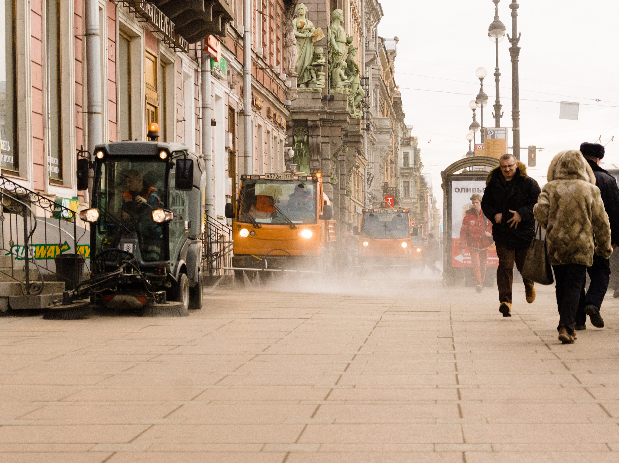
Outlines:
[[[330,265],[333,209],[320,174],[286,171],[241,175],[232,219],[232,268],[243,271],[322,271]],[[331,221],[331,225],[332,225]]]

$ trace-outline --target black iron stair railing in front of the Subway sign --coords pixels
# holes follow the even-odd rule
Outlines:
[[[71,249],[72,253],[80,253],[76,213],[2,175],[0,205],[0,254],[11,257],[10,268],[4,260],[0,273],[21,282],[24,295],[41,294],[44,275],[58,275],[56,266],[50,267],[50,260]],[[84,245],[81,250],[83,255],[88,254],[89,246]],[[15,268],[19,261],[24,262],[23,269]],[[36,271],[40,280],[32,278],[31,270]],[[59,280],[67,281],[62,277]]]

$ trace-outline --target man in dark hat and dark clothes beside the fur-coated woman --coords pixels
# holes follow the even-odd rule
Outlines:
[[[582,143],[581,153],[587,159],[587,163],[595,174],[595,186],[600,189],[602,195],[604,209],[610,222],[610,242],[615,249],[619,244],[619,188],[617,181],[615,177],[599,166],[600,159],[604,158],[604,147],[602,145],[599,145],[599,143]],[[608,259],[594,253],[593,265],[587,268],[587,273],[589,273],[591,283],[586,294],[584,286],[581,289],[574,328],[586,329],[587,315],[589,315],[593,326],[604,328],[604,320],[600,316],[600,307],[608,290],[608,281],[610,281]]]

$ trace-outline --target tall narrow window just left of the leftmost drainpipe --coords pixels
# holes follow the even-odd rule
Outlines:
[[[52,182],[62,183],[63,179],[63,99],[61,87],[61,41],[60,41],[60,1],[48,0],[46,3],[47,40],[47,116],[48,116],[48,174]]]

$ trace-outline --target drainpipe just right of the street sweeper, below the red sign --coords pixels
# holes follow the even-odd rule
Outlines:
[[[206,41],[202,39],[200,52],[200,91],[202,94],[202,159],[206,172],[206,198],[204,208],[209,217],[215,218],[213,200],[213,150],[210,138],[210,57],[206,53]]]

